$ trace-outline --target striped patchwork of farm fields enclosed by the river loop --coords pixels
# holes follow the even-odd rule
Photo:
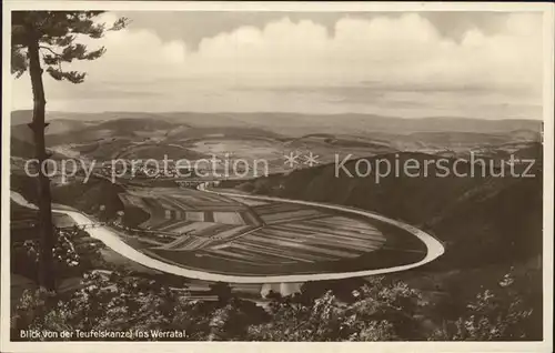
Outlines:
[[[128,231],[127,242],[186,269],[238,275],[357,271],[426,254],[403,229],[316,206],[178,188],[128,189],[119,196],[125,208],[150,215]]]

